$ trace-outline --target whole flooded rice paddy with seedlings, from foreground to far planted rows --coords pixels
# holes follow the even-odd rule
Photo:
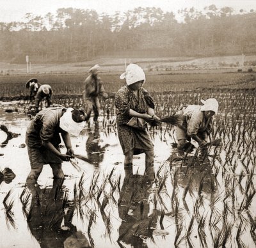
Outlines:
[[[83,107],[80,77],[45,78],[54,104]],[[26,96],[24,79],[1,80],[6,100]],[[63,162],[63,182],[44,166],[36,198],[31,192],[38,185],[26,185],[30,166],[22,145],[33,102],[26,97],[1,102],[1,123],[17,134],[3,143],[0,133],[1,171],[8,167],[16,175],[0,181],[1,247],[256,247],[255,74],[148,75],[145,88],[158,116],[211,97],[220,104],[207,157],[195,144],[182,161],[170,162],[173,126],[148,126],[155,146],[153,178],[144,174],[143,155],[124,169],[113,100],[124,82],[109,74],[102,80],[111,97],[101,102],[99,128],[91,122],[72,137],[74,150],[93,164]],[[211,143],[216,139],[221,143]]]

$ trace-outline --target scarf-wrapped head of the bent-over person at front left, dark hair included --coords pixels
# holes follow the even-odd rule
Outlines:
[[[86,117],[87,115],[83,111],[68,107],[60,118],[60,128],[71,135],[79,136],[84,128]]]

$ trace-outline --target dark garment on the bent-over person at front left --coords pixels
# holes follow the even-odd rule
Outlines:
[[[51,142],[57,150],[60,150],[60,133],[65,132],[60,128],[60,118],[63,111],[65,108],[47,108],[38,112],[31,121],[26,132],[26,144],[28,145],[31,167],[37,162],[44,162],[44,164],[62,162],[43,144]]]

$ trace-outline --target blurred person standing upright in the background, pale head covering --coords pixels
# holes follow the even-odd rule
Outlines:
[[[98,77],[99,65],[95,65],[89,70],[89,75],[84,81],[83,100],[86,105],[87,118],[90,118],[91,112],[94,112],[93,121],[98,122],[100,101],[99,96],[108,98],[100,77]]]

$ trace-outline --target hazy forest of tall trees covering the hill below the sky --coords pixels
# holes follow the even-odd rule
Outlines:
[[[223,56],[256,52],[256,12],[232,8],[180,10],[178,20],[160,8],[134,8],[115,15],[61,8],[24,22],[0,22],[0,60],[77,62],[102,56]]]

